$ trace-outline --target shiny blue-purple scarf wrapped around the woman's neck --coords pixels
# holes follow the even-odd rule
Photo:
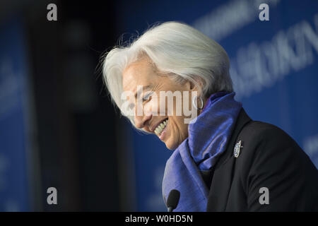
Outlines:
[[[180,191],[174,211],[206,211],[208,187],[200,171],[211,169],[226,150],[242,103],[235,93],[211,95],[194,124],[189,124],[189,136],[172,153],[165,165],[163,198],[172,189]]]

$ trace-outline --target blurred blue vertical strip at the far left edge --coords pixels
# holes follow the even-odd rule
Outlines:
[[[19,19],[0,26],[0,211],[30,210],[24,35]]]

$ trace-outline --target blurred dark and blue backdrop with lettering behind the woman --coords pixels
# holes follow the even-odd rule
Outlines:
[[[247,114],[281,127],[318,166],[318,1],[1,0],[0,211],[165,210],[172,151],[119,117],[100,61],[119,37],[168,20],[219,42]]]

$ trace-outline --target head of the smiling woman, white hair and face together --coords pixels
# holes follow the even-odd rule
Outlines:
[[[105,57],[104,63],[105,83],[112,100],[136,129],[155,133],[160,130],[161,123],[168,119],[167,129],[155,134],[169,149],[177,148],[188,135],[187,124],[183,122],[186,116],[174,114],[179,110],[177,103],[174,107],[166,107],[163,117],[142,117],[136,114],[140,106],[135,107],[134,116],[130,116],[125,113],[123,91],[136,93],[137,85],[141,85],[144,92],[151,86],[151,91],[155,92],[156,96],[160,95],[160,91],[177,91],[182,95],[179,101],[181,103],[184,100],[183,91],[186,91],[190,95],[188,106],[192,109],[192,91],[199,92],[199,100],[204,102],[211,93],[232,91],[228,69],[228,55],[219,44],[189,25],[175,22],[154,26],[128,46],[112,49]],[[158,109],[156,106],[159,103],[165,102],[163,99],[153,100],[151,96],[148,97],[150,100],[143,100],[143,105],[147,104],[143,116],[146,112]],[[133,108],[134,102],[137,102],[136,98],[129,101],[129,106]],[[196,115],[200,111],[201,109],[198,109]],[[168,114],[171,116],[167,117]]]

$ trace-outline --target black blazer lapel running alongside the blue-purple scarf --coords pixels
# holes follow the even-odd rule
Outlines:
[[[208,194],[208,211],[225,211],[235,165],[235,157],[233,156],[235,141],[242,128],[249,121],[252,121],[252,119],[249,118],[245,110],[242,108],[239,116],[237,117],[235,129],[232,132],[228,148],[220,157],[213,170],[213,178]]]

